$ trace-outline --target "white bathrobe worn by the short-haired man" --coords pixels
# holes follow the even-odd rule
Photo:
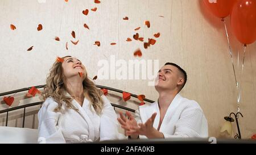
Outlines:
[[[135,111],[135,119],[138,123],[145,123],[154,112],[157,113],[154,128],[157,129],[160,120],[158,102],[144,104]],[[189,100],[177,94],[166,111],[159,132],[165,139],[182,137],[208,137],[208,123],[199,104],[195,100]],[[146,136],[139,136],[142,139]]]

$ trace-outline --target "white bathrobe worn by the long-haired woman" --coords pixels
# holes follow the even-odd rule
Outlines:
[[[102,95],[104,107],[97,115],[89,100],[84,99],[82,107],[75,99],[72,104],[78,111],[62,106],[61,112],[54,112],[57,103],[46,99],[38,112],[39,143],[76,143],[118,139],[117,115],[109,100]]]

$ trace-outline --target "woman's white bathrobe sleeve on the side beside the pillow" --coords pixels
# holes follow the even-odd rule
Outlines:
[[[53,99],[47,99],[38,112],[39,137],[38,143],[65,143],[61,129],[58,127],[61,112],[55,112],[57,103]]]

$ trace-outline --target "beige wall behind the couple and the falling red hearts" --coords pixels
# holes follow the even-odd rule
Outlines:
[[[88,16],[81,13],[93,7],[98,7],[98,10],[89,11]],[[42,85],[56,56],[78,57],[85,64],[89,76],[94,77],[99,69],[99,60],[109,60],[111,55],[115,55],[116,59],[133,60],[134,50],[141,48],[143,56],[139,60],[157,59],[159,66],[167,61],[175,62],[187,71],[188,82],[181,94],[199,102],[208,119],[209,136],[218,137],[224,116],[237,111],[237,91],[224,25],[209,15],[200,1],[102,0],[97,5],[93,1],[78,0],[68,3],[63,0],[46,0],[46,3],[2,0],[0,10],[1,93]],[[123,20],[125,16],[129,20]],[[150,28],[143,26],[144,20],[150,20]],[[40,32],[36,30],[39,23],[43,25]],[[89,31],[83,27],[84,23],[90,27]],[[10,24],[16,26],[15,31],[10,30]],[[139,41],[125,41],[127,37],[133,37],[137,27],[141,27],[138,33],[145,39],[156,32],[160,32],[161,36],[154,46],[145,50]],[[73,30],[80,40],[76,46],[69,41]],[[54,40],[55,36],[60,37],[59,42]],[[100,47],[93,45],[96,40],[101,41]],[[66,41],[69,41],[68,51],[65,49]],[[230,41],[238,72],[237,51],[241,56],[242,45],[231,33]],[[111,46],[112,42],[117,45]],[[28,52],[32,45],[34,49]],[[240,117],[240,128],[243,138],[249,138],[256,132],[255,52],[256,44],[250,44],[246,50],[242,77],[240,108],[244,117]],[[154,87],[147,86],[147,82],[97,80],[96,84],[145,94],[147,98],[156,100],[158,93]],[[19,105],[19,102],[14,105]],[[0,109],[3,108],[6,106],[1,102]]]

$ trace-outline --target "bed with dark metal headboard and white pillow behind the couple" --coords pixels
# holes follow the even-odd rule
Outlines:
[[[116,111],[123,110],[123,112],[124,111],[135,112],[135,108],[127,107],[126,103],[119,104],[120,100],[122,100],[122,97],[120,97],[121,96],[120,94],[123,93],[122,90],[114,89],[112,87],[100,86],[100,85],[96,85],[96,86],[100,89],[110,90],[110,91],[112,91],[112,94],[113,94],[113,92],[117,93],[117,94],[114,94],[115,97],[117,97],[119,94],[119,100],[115,101],[118,103],[116,103],[116,104],[111,103]],[[44,85],[35,86],[35,87],[42,88],[42,87],[44,87]],[[0,97],[8,96],[8,95],[14,94],[14,93],[26,92],[29,89],[31,89],[31,87],[8,91],[6,93],[1,93]],[[137,95],[131,94],[131,97],[137,98]],[[28,101],[28,100],[25,100],[25,102],[26,101]],[[0,125],[0,144],[3,144],[3,143],[15,143],[15,144],[37,143],[37,141],[38,141],[37,125],[34,124],[34,125],[32,125],[32,127],[26,127],[26,120],[27,120],[26,118],[28,117],[28,115],[34,115],[34,119],[32,119],[32,120],[34,120],[36,122],[37,118],[35,117],[35,115],[39,111],[43,101],[40,99],[39,100],[36,100],[36,99],[31,100],[30,99],[29,101],[30,101],[30,103],[22,103],[22,104],[19,103],[18,106],[8,107],[3,110],[0,110],[0,116],[1,116],[0,118],[2,119],[2,125]],[[144,101],[149,102],[149,103],[154,102],[153,100],[150,100],[150,99],[144,99]],[[28,111],[29,108],[34,108],[34,110],[32,110],[32,112]],[[9,126],[10,118],[11,117],[14,118],[14,116],[15,116],[12,114],[12,112],[14,112],[14,111],[19,111],[19,114],[16,114],[16,115],[17,115],[17,119],[20,120],[21,124],[16,122],[14,124],[10,124],[12,126]],[[14,118],[14,119],[16,119],[16,118]],[[31,122],[31,120],[28,120],[28,123],[30,123],[30,122]],[[120,133],[122,134],[121,127],[119,129],[120,129]]]

